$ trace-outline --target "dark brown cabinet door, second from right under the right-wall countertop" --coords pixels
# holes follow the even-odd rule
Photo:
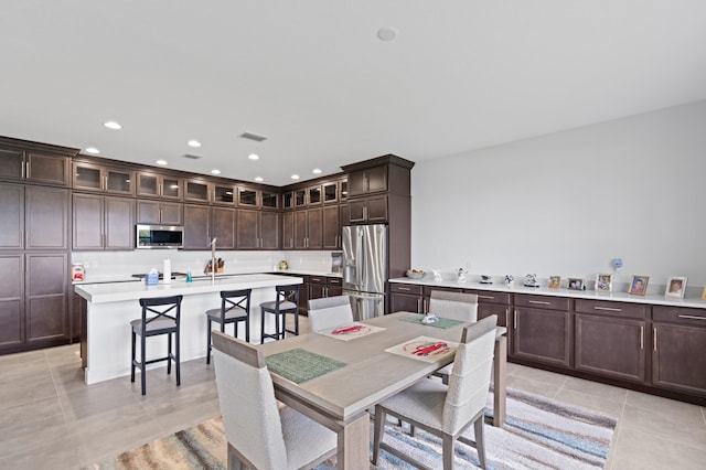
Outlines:
[[[645,382],[645,321],[577,313],[575,368]]]

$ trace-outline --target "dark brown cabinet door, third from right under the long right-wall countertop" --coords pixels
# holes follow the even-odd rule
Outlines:
[[[515,357],[569,367],[570,339],[568,311],[514,309],[512,355]]]

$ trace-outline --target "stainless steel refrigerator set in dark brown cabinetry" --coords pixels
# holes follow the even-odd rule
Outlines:
[[[387,225],[343,227],[343,293],[351,296],[353,318],[385,313],[387,285]]]

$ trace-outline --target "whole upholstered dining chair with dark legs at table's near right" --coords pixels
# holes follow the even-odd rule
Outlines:
[[[445,470],[453,468],[457,440],[474,447],[481,468],[485,468],[483,413],[493,366],[496,322],[498,316],[490,316],[463,329],[448,385],[419,381],[375,405],[373,464],[377,464],[379,449],[385,449],[419,467],[411,457],[383,441],[386,416],[392,415],[441,438]],[[470,425],[474,427],[474,441],[462,436]]]

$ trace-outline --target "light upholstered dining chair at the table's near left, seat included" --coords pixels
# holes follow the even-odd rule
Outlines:
[[[213,355],[228,469],[312,468],[335,453],[335,432],[278,406],[263,351],[214,331]]]

